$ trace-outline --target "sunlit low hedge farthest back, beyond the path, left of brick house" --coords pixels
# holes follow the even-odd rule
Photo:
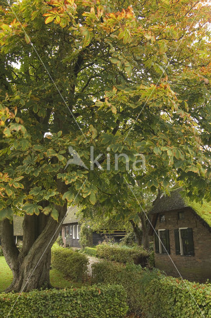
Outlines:
[[[122,246],[101,244],[96,246],[96,256],[111,261],[140,263],[145,266],[149,253],[141,246]]]

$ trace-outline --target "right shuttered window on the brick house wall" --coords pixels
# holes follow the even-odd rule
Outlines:
[[[174,237],[177,255],[194,256],[193,230],[191,228],[174,230]]]

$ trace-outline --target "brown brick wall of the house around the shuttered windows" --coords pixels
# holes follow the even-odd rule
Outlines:
[[[184,210],[184,219],[178,220],[178,212],[166,212],[165,223],[159,222],[155,230],[169,230],[170,256],[183,278],[189,280],[206,281],[211,279],[211,232],[205,227],[194,213]],[[174,230],[178,228],[192,228],[195,256],[176,255]],[[164,270],[168,275],[179,276],[171,259],[166,254],[155,253],[155,267]]]

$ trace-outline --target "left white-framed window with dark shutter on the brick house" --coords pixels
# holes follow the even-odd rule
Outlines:
[[[169,230],[158,230],[154,235],[155,253],[170,254]]]

